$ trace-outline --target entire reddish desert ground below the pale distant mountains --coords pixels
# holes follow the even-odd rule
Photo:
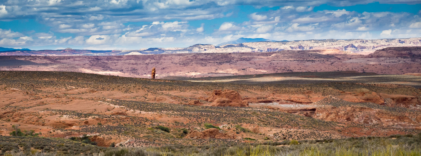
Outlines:
[[[338,142],[358,153],[385,140],[414,152],[419,52],[4,56],[0,154],[224,155],[267,145],[300,155]]]

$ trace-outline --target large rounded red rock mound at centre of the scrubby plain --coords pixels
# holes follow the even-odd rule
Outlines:
[[[212,102],[213,106],[220,107],[248,107],[248,103],[243,102],[242,97],[237,91],[232,90],[214,90],[206,99]]]

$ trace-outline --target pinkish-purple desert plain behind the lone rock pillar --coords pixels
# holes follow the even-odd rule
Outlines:
[[[209,46],[198,44],[194,48]],[[420,52],[419,47],[389,47],[371,55],[340,50],[282,50],[124,56],[0,56],[0,70],[70,71],[136,78],[150,78],[153,67],[157,70],[157,78],[350,70],[402,75],[421,73]]]

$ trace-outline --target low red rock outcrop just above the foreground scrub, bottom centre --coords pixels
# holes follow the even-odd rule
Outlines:
[[[216,128],[209,128],[207,130],[203,130],[199,132],[198,130],[191,130],[187,138],[193,139],[234,139],[234,135],[229,135],[227,133],[220,133]]]

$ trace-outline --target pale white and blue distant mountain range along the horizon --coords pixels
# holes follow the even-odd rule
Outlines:
[[[421,46],[421,38],[408,39],[321,39],[273,42],[266,39],[240,38],[220,46],[212,44],[195,44],[187,48],[149,48],[139,50],[29,50],[13,49],[0,51],[0,55],[40,55],[40,56],[107,56],[107,55],[145,55],[145,54],[175,54],[175,53],[213,53],[213,52],[276,52],[282,50],[319,50],[338,49],[346,52],[370,54],[386,47],[416,47]],[[249,42],[254,41],[254,42]],[[257,41],[257,42],[256,42]],[[242,43],[240,43],[242,42]],[[228,42],[226,42],[228,43]],[[219,44],[218,44],[219,45]],[[3,47],[2,47],[3,48]],[[8,48],[12,49],[12,48]]]

